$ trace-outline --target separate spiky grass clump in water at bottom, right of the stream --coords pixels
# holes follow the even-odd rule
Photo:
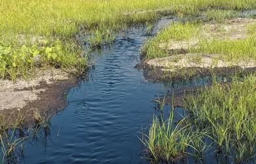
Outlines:
[[[184,157],[192,138],[188,125],[183,126],[183,121],[175,125],[173,112],[167,121],[154,116],[153,123],[149,126],[149,135],[143,135],[142,142],[149,159],[163,163]]]

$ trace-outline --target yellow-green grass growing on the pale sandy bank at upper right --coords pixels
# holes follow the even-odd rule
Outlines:
[[[216,20],[222,19],[216,18]],[[200,53],[204,53],[218,54],[218,59],[226,62],[239,63],[243,61],[245,64],[255,62],[255,24],[249,24],[245,27],[247,38],[243,40],[232,40],[228,37],[222,38],[222,36],[206,38],[202,30],[206,30],[207,33],[209,29],[208,26],[202,27],[202,25],[202,23],[197,22],[171,24],[161,30],[155,38],[146,41],[144,47],[142,47],[142,56],[145,59],[155,59],[178,55],[179,53],[195,53],[197,55],[191,58],[191,61],[200,63],[200,58],[202,58]],[[218,32],[220,34],[226,32],[222,28],[218,30],[220,30]],[[173,49],[175,46],[177,46],[177,49]],[[181,48],[184,46],[185,49]],[[214,62],[214,65],[216,65],[217,61],[215,60]]]

